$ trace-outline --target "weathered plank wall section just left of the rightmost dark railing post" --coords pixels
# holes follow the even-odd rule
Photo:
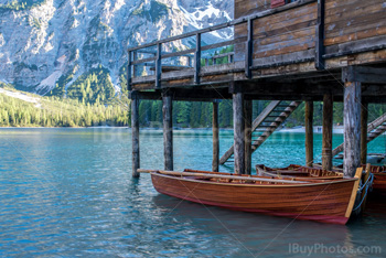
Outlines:
[[[242,0],[236,0],[236,2],[242,2]],[[247,3],[249,0],[244,2]],[[248,13],[244,9],[249,6],[245,4],[243,10],[236,8],[235,13]],[[276,56],[286,54],[291,61],[293,56],[313,57],[317,17],[318,4],[312,2],[255,20],[254,65],[267,64],[267,60],[262,60],[265,57],[275,61]],[[247,24],[235,26],[235,37],[247,39]],[[244,43],[235,45],[235,61],[245,60],[245,46]],[[282,57],[280,60],[286,61]]]

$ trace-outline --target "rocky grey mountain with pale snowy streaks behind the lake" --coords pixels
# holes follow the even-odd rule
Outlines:
[[[0,0],[0,82],[99,101],[96,94],[120,90],[129,46],[232,18],[233,1],[223,0]],[[230,36],[224,30],[203,41]]]

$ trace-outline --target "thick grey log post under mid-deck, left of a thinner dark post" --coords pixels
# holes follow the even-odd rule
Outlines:
[[[233,95],[233,123],[234,123],[234,157],[235,173],[243,174],[245,171],[245,136],[244,136],[244,94]]]

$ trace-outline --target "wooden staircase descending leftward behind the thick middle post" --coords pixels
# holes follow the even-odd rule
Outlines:
[[[286,121],[286,119],[298,108],[300,104],[301,101],[271,101],[251,125],[251,151],[256,151],[268,139],[268,137],[270,137],[274,131],[276,131]],[[229,159],[233,154],[234,146],[232,146],[229,150],[227,150],[219,159],[219,163],[224,164],[225,162],[232,162]]]

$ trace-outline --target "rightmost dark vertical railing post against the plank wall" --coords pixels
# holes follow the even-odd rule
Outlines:
[[[315,68],[325,69],[325,62],[323,55],[324,49],[324,11],[325,0],[318,1],[318,24],[317,24],[317,42],[315,42]]]

